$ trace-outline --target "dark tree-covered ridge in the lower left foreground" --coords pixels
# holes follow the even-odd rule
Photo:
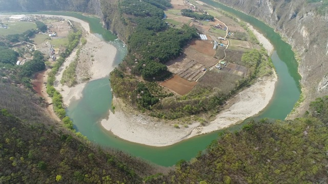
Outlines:
[[[152,170],[45,123],[23,123],[0,109],[0,183],[142,183],[141,176]]]

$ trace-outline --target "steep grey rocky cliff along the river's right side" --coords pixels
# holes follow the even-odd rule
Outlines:
[[[292,45],[305,96],[298,113],[308,109],[310,101],[328,94],[328,13],[320,11],[325,8],[324,2],[220,0],[220,3],[263,20]]]

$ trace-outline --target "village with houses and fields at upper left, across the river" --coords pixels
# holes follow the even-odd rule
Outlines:
[[[47,31],[38,31],[35,21],[42,21],[47,25]],[[59,17],[45,16],[27,16],[12,15],[1,17],[1,28],[6,29],[5,32],[0,30],[0,35],[7,36],[11,34],[22,34],[28,30],[36,30],[36,34],[30,37],[31,42],[19,41],[11,43],[11,48],[19,53],[16,65],[23,65],[33,59],[34,51],[40,51],[48,58],[46,65],[52,65],[56,61],[60,52],[65,51],[68,44],[68,34],[72,31],[72,23]]]

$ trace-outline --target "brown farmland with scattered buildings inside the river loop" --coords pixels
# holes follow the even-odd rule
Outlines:
[[[178,95],[186,95],[201,82],[201,86],[216,87],[229,93],[236,81],[251,75],[249,68],[241,62],[241,56],[244,52],[259,47],[244,40],[248,33],[235,20],[199,1],[181,3],[174,0],[171,4],[173,9],[165,12],[164,20],[167,24],[177,29],[183,24],[195,27],[199,32],[199,39],[192,41],[180,57],[167,63],[168,70],[174,77],[160,83],[161,86]],[[180,11],[183,9],[213,15],[215,18],[197,20],[183,16]]]

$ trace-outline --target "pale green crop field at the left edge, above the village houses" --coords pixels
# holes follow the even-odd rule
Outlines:
[[[30,29],[36,29],[36,25],[32,22],[3,22],[7,29],[0,28],[0,35],[21,34]]]

